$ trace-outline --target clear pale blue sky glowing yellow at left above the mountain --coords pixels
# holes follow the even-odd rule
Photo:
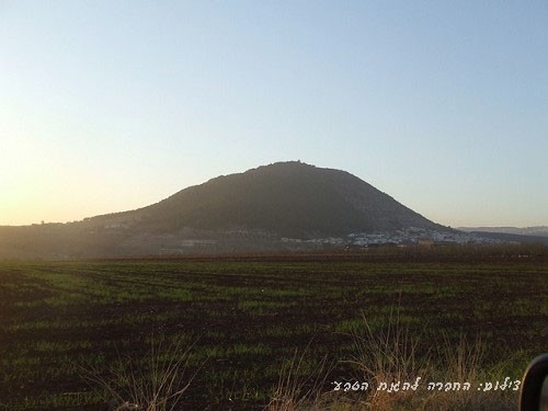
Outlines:
[[[548,225],[548,2],[0,0],[0,225],[342,169],[452,227]]]

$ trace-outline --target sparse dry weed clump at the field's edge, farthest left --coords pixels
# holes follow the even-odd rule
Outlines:
[[[104,378],[95,367],[84,369],[83,378],[109,393],[113,410],[179,410],[178,404],[201,368],[185,377],[190,351],[195,344],[185,350],[180,342],[164,347],[162,340],[156,342],[152,339],[149,357],[145,361],[123,358],[118,354],[111,378]]]

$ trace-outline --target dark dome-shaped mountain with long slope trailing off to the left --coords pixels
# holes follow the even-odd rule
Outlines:
[[[284,238],[409,228],[449,230],[349,172],[289,161],[221,175],[136,210],[3,227],[0,255],[7,249],[77,256],[258,250],[279,247]]]

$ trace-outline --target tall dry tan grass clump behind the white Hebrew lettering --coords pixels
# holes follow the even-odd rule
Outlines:
[[[469,341],[464,334],[452,343],[444,335],[436,349],[420,352],[419,336],[410,334],[409,327],[399,321],[399,310],[388,324],[373,331],[364,317],[364,328],[354,333],[356,356],[349,363],[369,384],[365,409],[388,410],[514,410],[515,392],[478,390],[481,381],[496,379],[494,372],[486,370],[486,345],[481,338]],[[436,358],[436,359],[434,359]],[[429,390],[431,383],[449,383],[450,390]],[[454,383],[456,383],[454,385]],[[468,383],[471,389],[461,389]],[[391,387],[398,389],[378,389]],[[401,387],[406,387],[401,389]]]

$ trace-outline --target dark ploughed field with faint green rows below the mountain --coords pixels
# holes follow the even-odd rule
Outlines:
[[[155,335],[198,341],[185,357],[187,373],[199,369],[181,402],[191,409],[267,406],[279,373],[307,345],[290,380],[308,392],[307,373],[327,355],[323,400],[332,380],[355,377],[347,361],[364,316],[384,335],[395,307],[410,338],[420,334],[418,361],[481,335],[484,378],[518,378],[546,350],[547,274],[536,261],[3,262],[0,409],[96,409],[110,398],[79,369],[106,375],[121,355],[145,367]],[[431,355],[443,363],[442,352]]]

